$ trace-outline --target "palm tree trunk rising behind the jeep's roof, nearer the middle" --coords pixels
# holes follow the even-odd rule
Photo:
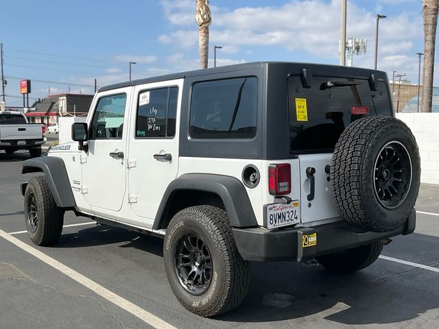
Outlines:
[[[196,0],[195,21],[198,24],[198,48],[200,49],[200,68],[207,69],[209,59],[209,25],[212,23],[209,0]]]

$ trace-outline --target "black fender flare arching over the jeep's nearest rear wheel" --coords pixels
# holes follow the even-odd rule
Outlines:
[[[189,173],[172,181],[163,195],[152,228],[158,230],[169,218],[171,204],[179,191],[202,191],[218,195],[226,208],[230,225],[237,228],[257,226],[250,199],[244,185],[236,178],[224,175]]]

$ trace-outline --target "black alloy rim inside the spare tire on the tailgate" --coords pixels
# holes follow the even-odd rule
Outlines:
[[[407,149],[398,141],[386,143],[375,160],[375,195],[388,209],[400,206],[412,184],[412,160]]]

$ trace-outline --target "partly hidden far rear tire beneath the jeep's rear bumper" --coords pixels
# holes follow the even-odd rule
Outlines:
[[[328,271],[350,273],[365,269],[371,265],[381,254],[383,244],[380,242],[370,245],[361,245],[343,252],[316,257],[320,265]]]

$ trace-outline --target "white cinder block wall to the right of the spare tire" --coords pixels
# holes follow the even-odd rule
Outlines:
[[[420,182],[439,184],[439,113],[397,113],[412,130],[420,153]]]

